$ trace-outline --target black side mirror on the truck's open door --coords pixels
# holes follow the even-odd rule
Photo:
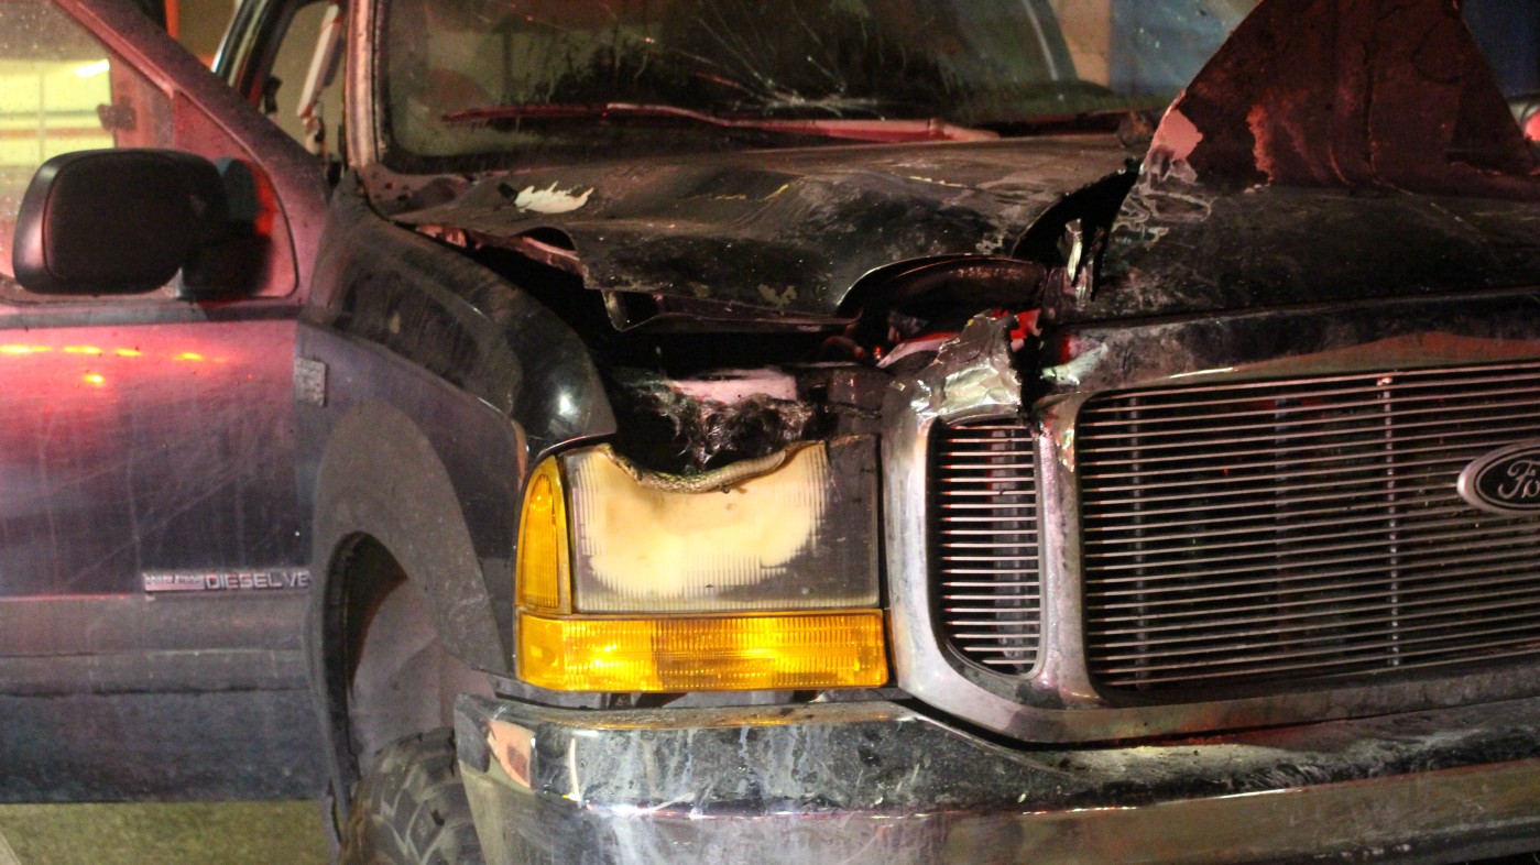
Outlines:
[[[180,269],[196,289],[199,274],[225,269],[208,259],[239,234],[225,183],[214,163],[179,151],[57,155],[22,197],[15,280],[38,294],[142,294]]]

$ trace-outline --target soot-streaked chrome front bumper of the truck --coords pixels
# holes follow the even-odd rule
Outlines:
[[[1540,699],[1007,748],[896,703],[460,697],[487,862],[1458,862],[1540,848]]]

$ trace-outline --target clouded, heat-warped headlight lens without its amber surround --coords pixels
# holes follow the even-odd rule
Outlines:
[[[715,473],[685,482],[638,473],[608,448],[574,454],[565,462],[574,606],[584,613],[875,606],[873,491],[852,489],[872,477],[836,482],[821,443],[770,460],[728,469],[744,477]]]

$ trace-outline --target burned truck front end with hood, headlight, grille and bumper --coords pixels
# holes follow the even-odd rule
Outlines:
[[[514,677],[459,710],[488,845],[1532,847],[1540,536],[1457,483],[1534,446],[1540,182],[1474,51],[1445,0],[1266,0],[1143,160],[975,137],[376,183],[581,334],[614,417],[530,454]],[[440,120],[656,114],[579,108]]]

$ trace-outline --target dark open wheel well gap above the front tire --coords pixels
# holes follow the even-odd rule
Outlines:
[[[333,562],[322,660],[351,785],[391,742],[453,726],[457,694],[491,688],[444,648],[422,585],[383,543],[353,536]]]

